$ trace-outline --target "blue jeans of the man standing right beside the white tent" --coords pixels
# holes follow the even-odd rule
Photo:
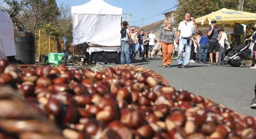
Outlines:
[[[127,64],[129,65],[131,63],[130,59],[130,53],[129,53],[129,44],[128,42],[121,41],[121,65],[125,64],[125,59],[127,61]]]

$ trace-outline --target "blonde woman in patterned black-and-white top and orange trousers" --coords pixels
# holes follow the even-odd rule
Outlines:
[[[163,67],[170,67],[172,64],[172,53],[173,53],[173,43],[174,38],[176,38],[176,33],[171,28],[172,21],[166,20],[165,27],[160,30],[157,42],[161,43],[162,54],[163,54]]]

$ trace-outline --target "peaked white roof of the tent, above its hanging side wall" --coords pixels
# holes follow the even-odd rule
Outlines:
[[[83,5],[71,6],[71,14],[122,15],[122,8],[118,8],[103,0],[91,0]]]

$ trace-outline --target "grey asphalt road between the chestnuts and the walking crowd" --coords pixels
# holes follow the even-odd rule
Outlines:
[[[236,112],[256,117],[256,109],[250,108],[254,98],[256,69],[243,67],[211,66],[210,63],[189,63],[189,68],[177,68],[177,60],[171,67],[163,68],[162,57],[154,60],[136,60],[132,65],[146,67],[161,74],[176,90],[183,89],[210,98]]]

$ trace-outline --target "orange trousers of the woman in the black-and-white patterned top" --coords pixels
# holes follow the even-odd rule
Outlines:
[[[172,64],[173,44],[161,42],[161,46],[163,50],[163,64]]]

